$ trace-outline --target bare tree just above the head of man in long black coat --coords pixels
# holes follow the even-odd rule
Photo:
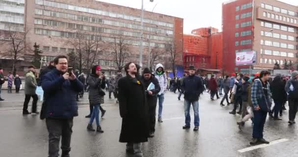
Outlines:
[[[129,46],[125,44],[125,39],[122,35],[114,36],[114,42],[111,43],[111,56],[117,65],[118,70],[124,68],[126,59],[131,55]]]

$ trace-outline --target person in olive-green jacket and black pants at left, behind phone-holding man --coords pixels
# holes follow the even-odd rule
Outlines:
[[[31,112],[28,112],[28,103],[31,97],[33,98],[31,111],[32,113],[39,113],[37,112],[38,96],[35,93],[36,87],[37,82],[35,78],[35,67],[33,65],[29,65],[28,72],[25,74],[25,102],[23,107],[23,114],[31,114]]]

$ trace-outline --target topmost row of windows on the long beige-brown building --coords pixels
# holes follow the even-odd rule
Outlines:
[[[40,5],[55,7],[55,8],[75,10],[75,11],[81,11],[81,12],[86,12],[86,13],[91,13],[91,14],[104,15],[104,16],[121,18],[121,19],[132,20],[132,21],[136,20],[138,22],[141,22],[140,17],[125,15],[125,14],[116,13],[116,12],[109,12],[109,11],[103,11],[103,10],[99,10],[99,9],[86,8],[86,7],[75,6],[75,5],[65,4],[65,3],[59,3],[59,2],[49,1],[49,0],[35,0],[35,3],[40,4]],[[150,20],[150,19],[144,19],[144,22],[149,23],[149,24],[159,25],[159,26],[167,26],[167,27],[172,27],[172,28],[174,27],[173,24],[165,23],[165,22],[161,22],[161,21]]]

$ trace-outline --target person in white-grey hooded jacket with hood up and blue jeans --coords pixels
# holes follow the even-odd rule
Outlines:
[[[155,66],[155,78],[158,79],[160,85],[160,92],[157,94],[158,97],[158,122],[162,123],[162,108],[165,99],[165,92],[167,89],[168,79],[164,71],[164,66],[162,64],[157,64]]]

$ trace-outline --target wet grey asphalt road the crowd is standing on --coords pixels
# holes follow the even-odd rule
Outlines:
[[[22,115],[23,94],[4,92],[1,96],[5,102],[0,102],[0,157],[47,157],[45,121],[40,120],[39,115]],[[204,93],[199,100],[199,131],[192,130],[193,121],[191,130],[185,131],[182,130],[183,101],[176,97],[174,93],[166,93],[164,122],[156,123],[155,137],[143,144],[144,157],[298,157],[298,125],[288,126],[288,110],[282,121],[267,119],[264,137],[269,141],[281,138],[289,141],[239,153],[238,150],[249,147],[250,121],[239,131],[236,122],[240,115],[228,114],[232,106],[221,107],[220,100],[211,102]],[[80,100],[79,116],[74,119],[71,157],[130,157],[125,154],[125,144],[118,142],[121,118],[115,101],[105,100],[102,105],[107,110],[100,119],[102,134],[86,131],[87,102],[85,95]],[[191,115],[193,120],[193,112]]]

